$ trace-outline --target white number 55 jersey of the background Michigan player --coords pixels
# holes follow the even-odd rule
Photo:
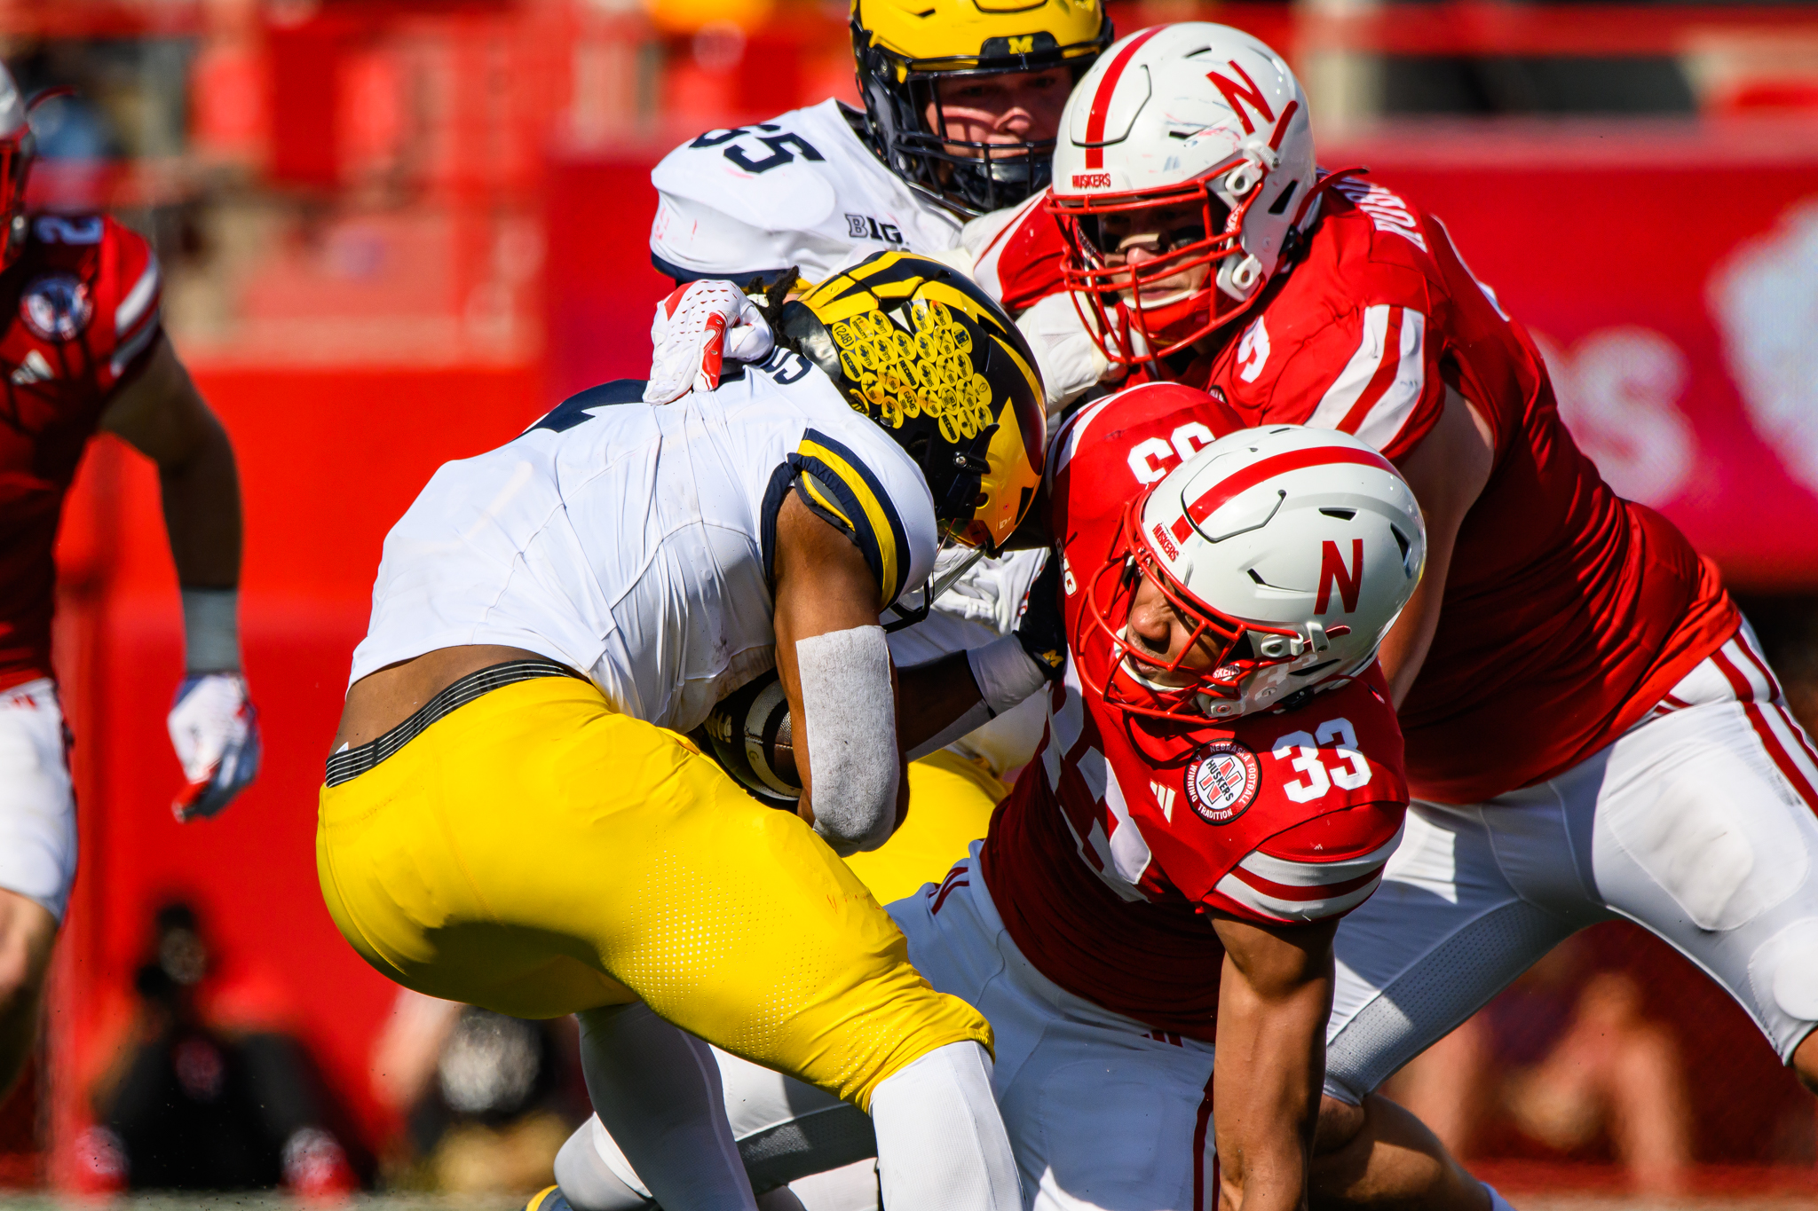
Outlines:
[[[960,220],[914,192],[825,100],[707,131],[651,169],[651,261],[678,280],[749,281],[796,265],[809,281],[867,252],[947,252]]]

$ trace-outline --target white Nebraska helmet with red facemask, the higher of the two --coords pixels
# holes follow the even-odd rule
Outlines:
[[[1133,363],[1242,314],[1311,220],[1313,196],[1307,94],[1287,62],[1242,29],[1180,22],[1114,42],[1073,89],[1047,209],[1067,236],[1067,287],[1096,312],[1087,329],[1111,361]],[[1171,218],[1173,231],[1129,214],[1184,205],[1196,216]],[[1116,212],[1124,231],[1158,234],[1153,260],[1131,267],[1102,236]],[[1178,274],[1207,280],[1189,287]]]

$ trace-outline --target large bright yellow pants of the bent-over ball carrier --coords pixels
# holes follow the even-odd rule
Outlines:
[[[807,824],[573,677],[493,690],[324,786],[316,870],[405,988],[514,1017],[644,1000],[860,1109],[934,1048],[991,1046]]]

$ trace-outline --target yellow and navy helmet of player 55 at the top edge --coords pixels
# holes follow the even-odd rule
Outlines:
[[[853,0],[858,93],[876,153],[911,189],[962,214],[1047,189],[1054,140],[947,138],[936,80],[1060,69],[1078,84],[1107,45],[1104,0]]]

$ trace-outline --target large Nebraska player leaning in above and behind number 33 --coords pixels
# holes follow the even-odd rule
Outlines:
[[[1000,218],[982,276],[1071,287],[1105,361],[1245,423],[1356,434],[1427,519],[1425,581],[1382,648],[1414,802],[1338,930],[1316,1195],[1482,1207],[1373,1089],[1596,921],[1689,955],[1818,1089],[1818,752],[1716,570],[1598,478],[1436,218],[1316,172],[1269,47],[1140,31],[1062,129],[1058,225]]]

